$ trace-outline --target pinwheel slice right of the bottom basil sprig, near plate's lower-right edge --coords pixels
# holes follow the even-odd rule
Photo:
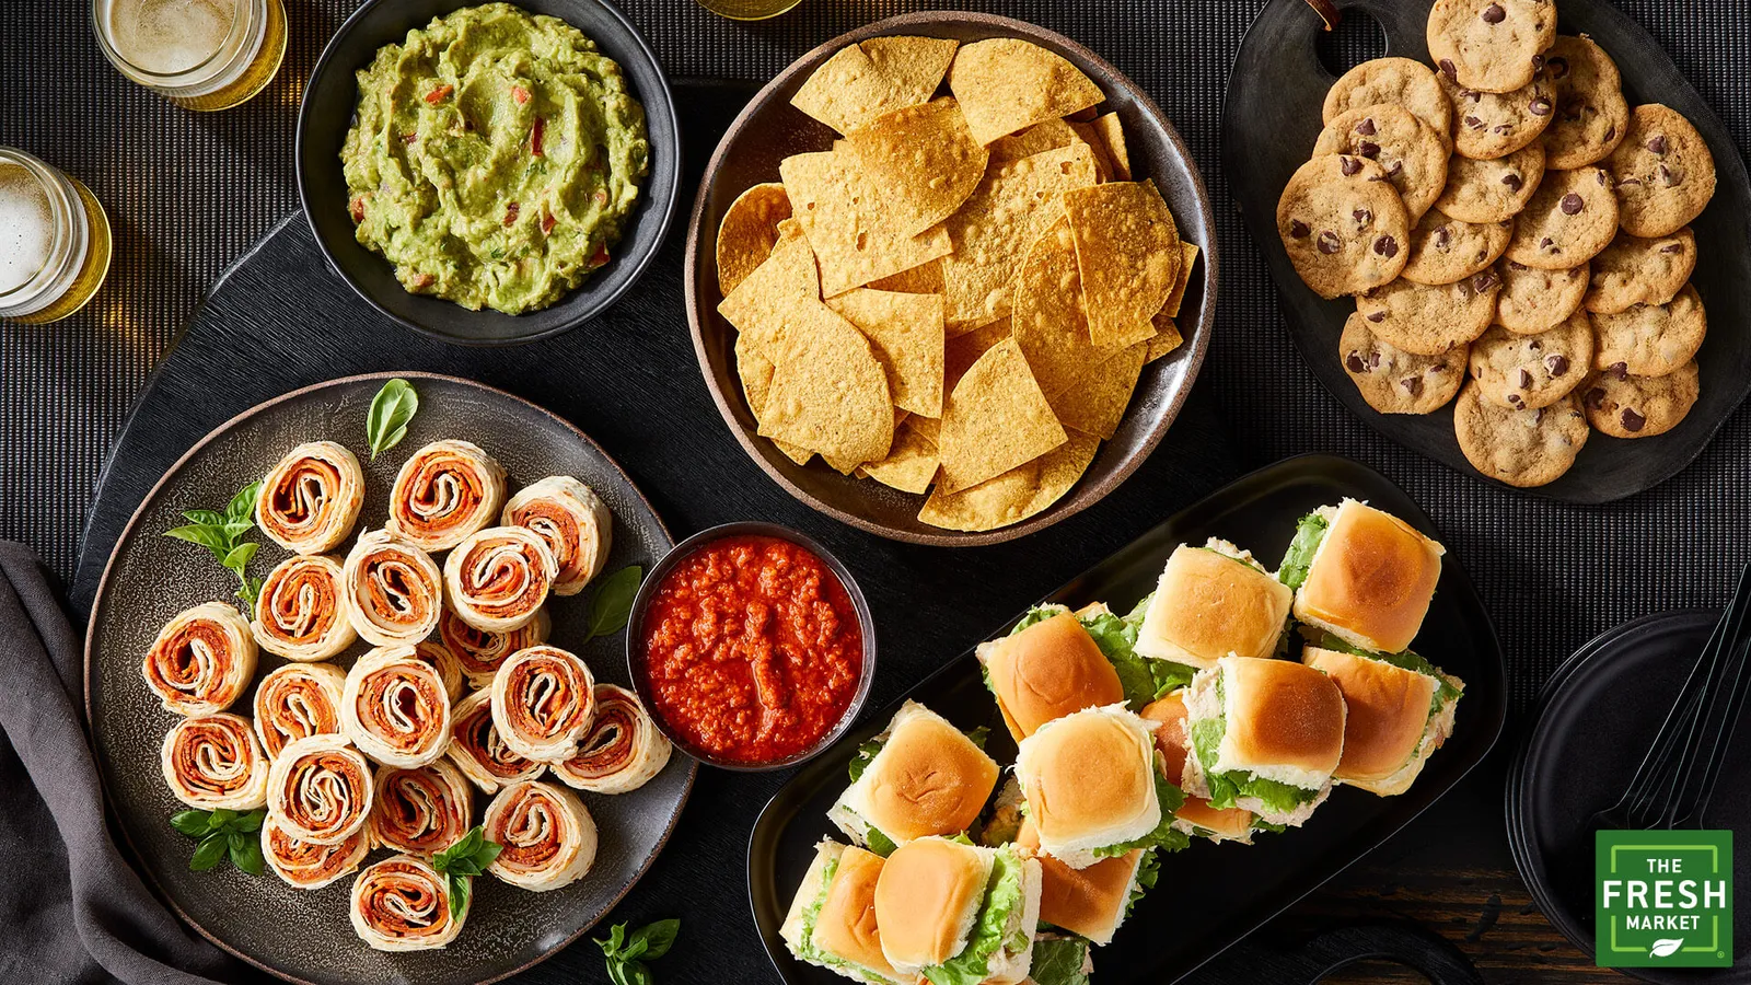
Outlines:
[[[566,787],[513,783],[487,804],[483,824],[501,845],[487,871],[531,892],[571,885],[595,864],[595,818]]]

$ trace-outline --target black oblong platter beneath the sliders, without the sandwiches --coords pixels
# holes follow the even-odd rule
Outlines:
[[[1208,536],[1224,536],[1275,561],[1289,547],[1296,521],[1343,496],[1368,500],[1441,536],[1422,508],[1383,475],[1341,457],[1301,456],[1254,471],[1175,514],[1042,601],[1070,606],[1107,601],[1128,610],[1154,589],[1175,545],[1203,543]],[[1010,626],[1014,620],[993,627],[988,638],[1005,634]],[[1417,650],[1466,680],[1457,731],[1429,761],[1417,785],[1397,797],[1340,787],[1306,827],[1262,836],[1252,847],[1199,841],[1163,857],[1156,892],[1138,903],[1114,943],[1094,955],[1101,981],[1164,983],[1191,973],[1410,824],[1483,759],[1508,712],[1502,650],[1478,592],[1452,554],[1441,566],[1441,584]],[[1016,747],[984,689],[972,648],[914,687],[909,698],[960,727],[989,726],[991,754],[998,762],[1014,762]],[[814,857],[814,843],[823,836],[840,838],[826,820],[826,808],[847,783],[846,764],[858,743],[879,733],[897,710],[898,703],[868,715],[860,729],[786,783],[755,822],[748,845],[749,904],[767,953],[790,985],[839,981],[793,959],[777,931]],[[1175,892],[1175,885],[1220,889]],[[1159,932],[1163,927],[1171,932]]]

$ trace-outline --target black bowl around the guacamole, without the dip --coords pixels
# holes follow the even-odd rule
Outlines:
[[[310,72],[305,102],[298,110],[298,198],[317,237],[317,245],[345,280],[373,308],[445,342],[464,345],[508,345],[548,338],[599,315],[615,303],[657,256],[674,203],[681,191],[681,128],[674,117],[674,100],[657,54],[627,18],[608,0],[517,0],[532,14],[548,14],[581,30],[620,63],[632,98],[644,105],[650,131],[650,175],[639,189],[620,242],[609,247],[613,259],[592,273],[576,291],[539,312],[508,315],[494,310],[471,312],[440,298],[410,294],[382,256],[359,245],[352,217],[347,214],[347,179],[341,174],[340,147],[352,126],[359,103],[354,72],[369,65],[376,49],[406,40],[408,30],[424,28],[461,7],[482,0],[369,0],[334,32],[322,58]]]

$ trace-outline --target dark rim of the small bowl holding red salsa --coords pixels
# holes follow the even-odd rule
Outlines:
[[[851,696],[851,705],[839,717],[839,722],[826,729],[819,740],[809,748],[791,754],[784,759],[772,759],[767,762],[734,762],[727,759],[718,759],[707,752],[700,752],[664,720],[662,712],[657,708],[657,701],[650,692],[650,682],[643,673],[644,664],[644,615],[650,612],[651,598],[657,594],[657,587],[662,584],[674,566],[686,561],[697,554],[707,543],[716,543],[730,536],[770,536],[774,540],[783,540],[809,550],[821,559],[823,564],[839,578],[844,585],[846,594],[851,596],[851,608],[858,613],[858,626],[863,631],[863,670],[858,673],[858,691]],[[728,769],[732,773],[770,773],[774,769],[790,769],[791,766],[800,766],[816,755],[832,748],[839,736],[846,734],[858,717],[863,713],[863,705],[870,696],[870,682],[876,680],[876,619],[870,615],[870,603],[863,598],[863,589],[858,587],[858,580],[851,577],[851,570],[833,556],[832,550],[823,547],[812,536],[790,529],[779,524],[769,524],[765,521],[735,521],[728,524],[718,524],[714,528],[706,528],[693,536],[676,543],[669,554],[662,556],[662,561],[651,564],[650,575],[639,584],[639,594],[632,599],[632,619],[627,620],[627,677],[632,678],[632,689],[639,696],[639,703],[650,712],[651,722],[657,724],[657,731],[669,740],[678,750],[686,754],[706,766],[716,766],[718,769]]]

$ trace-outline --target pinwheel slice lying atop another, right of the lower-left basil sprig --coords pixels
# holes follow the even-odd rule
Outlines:
[[[340,845],[364,831],[373,796],[371,764],[347,736],[287,743],[268,773],[268,813],[312,845]]]

